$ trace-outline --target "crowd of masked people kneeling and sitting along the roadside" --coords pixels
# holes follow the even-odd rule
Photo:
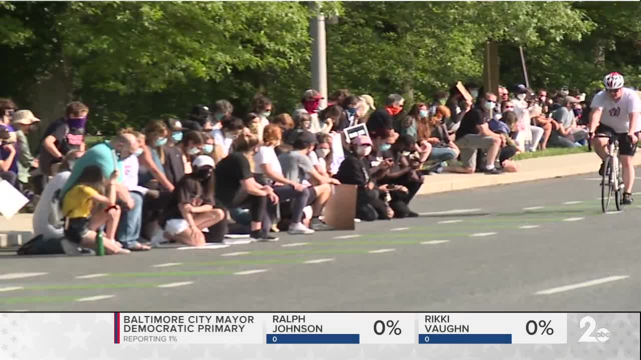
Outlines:
[[[36,238],[76,254],[100,237],[108,254],[124,254],[166,242],[203,246],[227,234],[276,241],[279,231],[331,231],[324,209],[340,184],[356,185],[355,221],[418,217],[410,203],[429,186],[426,176],[516,172],[519,152],[585,144],[585,94],[465,88],[412,106],[390,94],[378,108],[349,90],[321,106],[312,89],[279,115],[258,94],[242,117],[219,100],[89,148],[90,110],[71,102],[34,154],[26,135],[40,119],[0,99],[0,176],[31,200]],[[359,124],[366,131],[350,135]]]

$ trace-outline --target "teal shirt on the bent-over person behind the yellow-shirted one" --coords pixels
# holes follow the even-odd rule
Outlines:
[[[60,191],[60,199],[62,199],[65,193],[67,193],[69,189],[71,189],[72,186],[76,184],[76,181],[78,181],[78,177],[80,177],[80,174],[82,174],[85,168],[91,165],[96,165],[97,167],[101,168],[101,170],[103,170],[103,177],[105,179],[109,179],[109,177],[112,176],[113,170],[115,170],[114,165],[116,165],[118,167],[118,171],[120,172],[118,182],[122,183],[122,176],[124,173],[122,170],[122,161],[113,158],[112,150],[113,147],[112,145],[110,145],[110,143],[99,143],[85,152],[82,158],[76,160],[76,163],[74,163],[74,168],[73,170],[71,170],[71,176],[69,176],[69,179],[67,179],[67,183],[65,183],[65,186],[63,186],[62,190]]]

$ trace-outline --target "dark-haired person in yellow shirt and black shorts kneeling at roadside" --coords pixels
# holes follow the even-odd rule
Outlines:
[[[115,241],[121,209],[115,205],[116,185],[119,173],[115,170],[106,186],[107,196],[101,195],[105,188],[103,172],[99,167],[85,167],[78,180],[62,200],[62,213],[65,214],[65,240],[62,241],[66,254],[79,254],[78,246],[96,249],[97,231],[105,226],[103,237],[107,254],[128,254],[122,245]],[[103,206],[94,206],[94,203]],[[106,209],[103,209],[106,206]],[[69,243],[71,241],[71,243]]]

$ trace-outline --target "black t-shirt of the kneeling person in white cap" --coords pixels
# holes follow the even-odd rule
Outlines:
[[[206,186],[209,181],[197,180],[192,174],[183,176],[174,192],[171,193],[169,200],[167,201],[167,208],[165,209],[165,221],[174,219],[174,218],[183,218],[183,215],[180,213],[178,206],[181,204],[192,204],[192,206],[201,206],[209,204],[214,206],[215,200],[213,199],[213,192],[210,192],[208,195],[205,194]]]

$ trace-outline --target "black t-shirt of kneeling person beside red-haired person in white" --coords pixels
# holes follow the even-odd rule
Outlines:
[[[240,181],[253,177],[249,161],[242,152],[234,152],[216,166],[216,196],[224,204],[231,205],[240,190]]]

